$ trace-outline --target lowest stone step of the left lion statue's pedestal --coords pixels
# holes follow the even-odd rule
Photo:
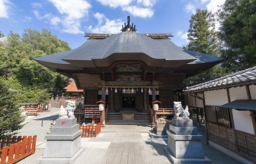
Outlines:
[[[41,156],[36,160],[36,164],[69,164],[74,163],[76,159],[85,151],[85,147],[81,147],[78,152],[74,154],[71,158],[43,158]]]

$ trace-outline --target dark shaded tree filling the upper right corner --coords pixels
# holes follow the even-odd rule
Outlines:
[[[221,57],[226,58],[222,65],[229,73],[256,65],[255,5],[256,0],[226,0],[217,12]]]

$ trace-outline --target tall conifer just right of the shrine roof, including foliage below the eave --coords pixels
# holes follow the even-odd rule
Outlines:
[[[219,43],[217,42],[217,33],[215,31],[214,14],[207,10],[200,10],[192,14],[190,19],[190,28],[188,30],[188,40],[190,41],[183,49],[194,52],[201,52],[210,55],[219,54]],[[216,65],[200,74],[188,77],[184,80],[183,86],[197,84],[205,80],[225,76],[226,72],[221,65]]]

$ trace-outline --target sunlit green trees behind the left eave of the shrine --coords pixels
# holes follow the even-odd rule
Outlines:
[[[0,77],[5,77],[10,87],[21,93],[20,102],[41,102],[42,97],[47,99],[48,93],[61,95],[68,85],[67,77],[38,64],[33,58],[69,49],[68,43],[46,29],[42,33],[27,29],[22,36],[10,31],[7,41],[0,45]]]

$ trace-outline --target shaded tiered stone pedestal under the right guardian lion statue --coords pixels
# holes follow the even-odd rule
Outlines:
[[[188,118],[172,118],[168,134],[168,147],[165,151],[174,164],[210,164],[210,159],[203,154],[201,140],[193,121]]]

